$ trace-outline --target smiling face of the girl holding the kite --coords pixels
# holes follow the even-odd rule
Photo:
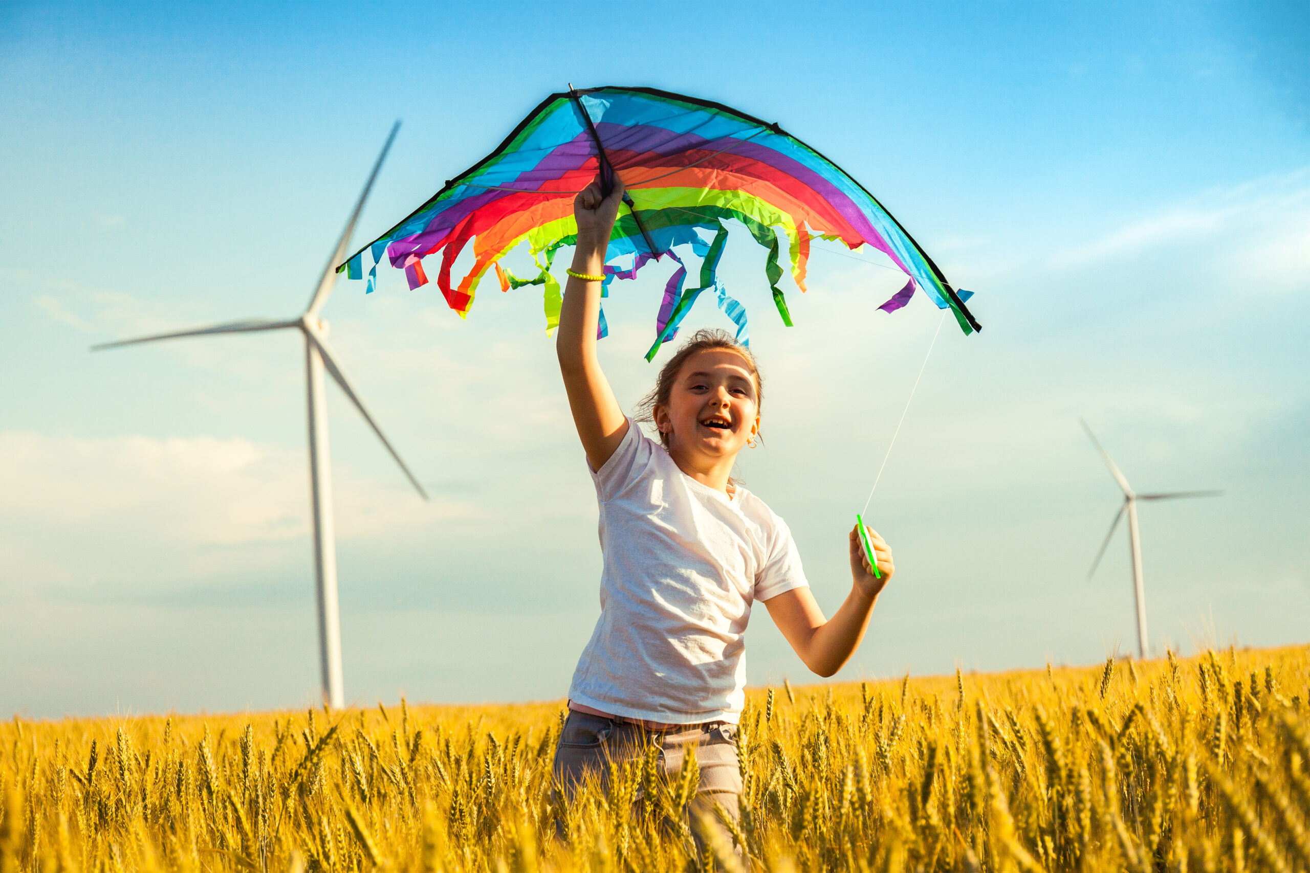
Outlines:
[[[654,414],[675,459],[714,463],[735,457],[760,431],[760,393],[751,365],[731,349],[696,352],[683,361],[668,403]]]

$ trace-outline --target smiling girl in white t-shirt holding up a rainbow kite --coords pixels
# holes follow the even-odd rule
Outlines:
[[[700,331],[660,370],[645,436],[614,399],[596,359],[605,247],[624,194],[592,182],[574,200],[578,247],[557,351],[569,407],[600,501],[600,620],[569,690],[554,777],[566,792],[608,762],[660,745],[664,772],[696,746],[700,804],[736,817],[741,777],[736,722],[745,703],[743,633],[762,601],[806,666],[834,674],[859,645],[892,554],[869,531],[875,579],[850,531],[853,585],[825,619],[786,524],[730,479],[760,432],[755,357],[722,331]]]

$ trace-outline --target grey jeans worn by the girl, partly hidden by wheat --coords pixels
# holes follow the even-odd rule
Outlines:
[[[552,766],[555,785],[570,800],[586,779],[595,779],[608,789],[609,763],[639,763],[651,743],[659,746],[660,772],[669,781],[677,779],[686,749],[694,746],[701,781],[689,806],[713,809],[717,801],[734,821],[738,819],[741,771],[738,766],[736,725],[723,722],[650,732],[641,725],[570,711]]]

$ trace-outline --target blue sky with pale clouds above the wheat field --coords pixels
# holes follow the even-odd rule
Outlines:
[[[0,29],[0,709],[317,694],[303,352],[291,335],[92,355],[293,315],[386,130],[356,240],[545,94],[641,84],[782,123],[959,285],[869,516],[899,572],[842,678],[1090,662],[1134,631],[1117,491],[1146,507],[1153,640],[1305,641],[1310,13],[1303,4],[9,4]],[[863,255],[862,255],[863,257]],[[832,253],[777,323],[723,276],[768,380],[740,472],[840,603],[845,530],[938,314]],[[595,500],[534,289],[461,321],[398,271],[325,315],[423,504],[329,389],[347,696],[562,696],[596,615]],[[603,355],[645,393],[664,274]],[[718,325],[709,304],[689,323]],[[804,668],[761,610],[752,682]]]

